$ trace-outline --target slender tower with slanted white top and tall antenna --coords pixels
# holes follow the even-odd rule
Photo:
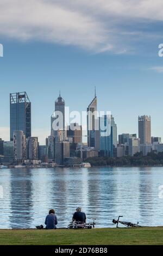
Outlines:
[[[87,107],[87,145],[99,150],[99,119],[97,117],[97,96]]]

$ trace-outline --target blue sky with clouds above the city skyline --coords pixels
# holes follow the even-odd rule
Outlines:
[[[0,138],[9,140],[10,93],[27,92],[32,136],[45,144],[59,90],[82,112],[95,86],[118,134],[137,133],[146,114],[163,137],[162,25],[161,0],[0,0]]]

